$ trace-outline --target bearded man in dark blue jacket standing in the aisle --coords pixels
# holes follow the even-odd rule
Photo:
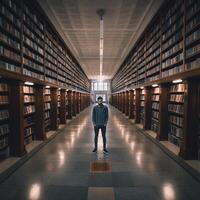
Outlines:
[[[98,145],[98,135],[99,130],[101,129],[102,137],[103,137],[103,151],[108,153],[106,149],[106,126],[108,122],[108,107],[103,105],[103,98],[98,97],[97,99],[98,105],[93,108],[92,111],[92,121],[94,124],[94,131],[95,131],[95,148],[93,152],[97,152],[97,145]]]

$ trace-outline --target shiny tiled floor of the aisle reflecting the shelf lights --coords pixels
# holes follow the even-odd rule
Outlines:
[[[91,108],[0,185],[0,199],[197,200],[200,184],[110,108],[109,154],[92,153]],[[111,171],[93,173],[91,163]],[[109,197],[109,198],[108,198]]]

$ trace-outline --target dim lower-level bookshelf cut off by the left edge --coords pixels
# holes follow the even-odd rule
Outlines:
[[[0,79],[0,152],[9,147],[9,132],[8,84]]]

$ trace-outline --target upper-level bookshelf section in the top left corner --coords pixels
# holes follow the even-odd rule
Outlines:
[[[19,2],[0,2],[0,68],[21,72]]]

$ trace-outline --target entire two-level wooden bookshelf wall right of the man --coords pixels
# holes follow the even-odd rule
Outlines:
[[[122,111],[123,93],[128,88],[132,99],[134,89],[135,106],[129,104],[129,118],[135,118],[144,130],[154,131],[157,140],[178,146],[185,159],[200,157],[199,10],[198,0],[165,1],[111,81],[116,96],[112,104]],[[173,83],[177,79],[183,82]],[[155,84],[158,93],[152,87]],[[177,89],[181,84],[184,91]]]

